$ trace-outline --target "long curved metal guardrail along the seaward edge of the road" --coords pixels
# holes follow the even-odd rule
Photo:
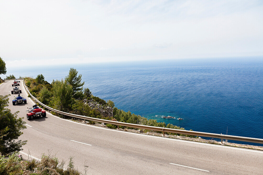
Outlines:
[[[8,80],[15,80],[15,79],[8,79]],[[118,121],[111,121],[111,120],[103,120],[103,119],[97,119],[93,117],[86,117],[82,115],[76,115],[76,114],[70,114],[67,112],[59,111],[56,109],[53,109],[52,107],[49,107],[43,103],[41,103],[36,97],[34,97],[28,90],[27,86],[24,83],[23,84],[28,91],[28,94],[31,95],[31,97],[36,100],[39,104],[44,106],[45,108],[57,112],[62,115],[78,118],[78,119],[83,119],[83,120],[91,120],[91,121],[96,121],[96,122],[101,122],[101,123],[109,123],[112,125],[117,125],[118,128],[119,126],[127,126],[127,127],[133,127],[133,128],[141,128],[141,129],[146,129],[146,130],[153,130],[153,131],[161,131],[163,132],[163,135],[165,132],[170,132],[170,133],[178,133],[178,134],[185,134],[185,135],[193,135],[193,136],[202,136],[202,137],[211,137],[211,138],[220,138],[221,141],[222,139],[227,139],[227,140],[236,140],[236,141],[243,141],[243,142],[253,142],[253,143],[261,143],[263,144],[263,139],[261,138],[252,138],[252,137],[241,137],[241,136],[232,136],[232,135],[224,135],[224,134],[215,134],[215,133],[208,133],[208,132],[198,132],[198,131],[188,131],[188,130],[178,130],[178,129],[171,129],[171,128],[163,128],[163,127],[155,127],[155,126],[147,126],[147,125],[138,125],[138,124],[133,124],[133,123],[124,123],[124,122],[118,122]]]

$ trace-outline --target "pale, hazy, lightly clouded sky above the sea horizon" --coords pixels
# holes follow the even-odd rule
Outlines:
[[[263,1],[0,0],[6,66],[263,55]]]

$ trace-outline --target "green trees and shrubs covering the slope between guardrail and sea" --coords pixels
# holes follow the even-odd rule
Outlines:
[[[38,77],[42,77],[42,80],[38,81]],[[166,124],[165,122],[157,122],[157,120],[147,119],[140,115],[132,114],[130,111],[126,112],[118,109],[115,107],[113,101],[108,100],[106,102],[99,97],[93,96],[92,92],[88,88],[83,89],[84,82],[81,81],[81,77],[82,75],[78,75],[78,71],[76,69],[70,68],[69,74],[64,80],[53,80],[51,84],[44,80],[42,74],[38,75],[35,79],[32,77],[25,77],[24,79],[33,96],[37,97],[43,104],[57,110],[105,120],[184,130],[184,128],[170,123]],[[103,109],[111,108],[112,115],[103,115],[102,112],[89,104],[99,107],[101,106]],[[67,118],[67,116],[58,115],[60,117]],[[110,128],[117,128],[117,126],[111,124],[107,124],[107,126]],[[120,128],[124,127],[120,126]],[[147,132],[147,130],[140,131]],[[176,133],[169,134],[188,136]]]

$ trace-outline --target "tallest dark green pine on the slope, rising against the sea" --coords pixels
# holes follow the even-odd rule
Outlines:
[[[74,68],[70,68],[68,76],[65,77],[65,81],[72,86],[72,95],[75,99],[83,98],[83,85],[84,82],[81,83],[82,75],[78,75],[78,71]]]

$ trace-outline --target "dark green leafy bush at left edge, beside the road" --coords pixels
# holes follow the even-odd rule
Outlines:
[[[18,112],[11,113],[8,106],[8,96],[0,95],[0,135],[3,136],[0,141],[0,152],[4,155],[12,153],[14,151],[21,151],[22,146],[26,144],[26,141],[18,140],[18,137],[23,134],[20,130],[26,128],[21,118],[17,116]]]

